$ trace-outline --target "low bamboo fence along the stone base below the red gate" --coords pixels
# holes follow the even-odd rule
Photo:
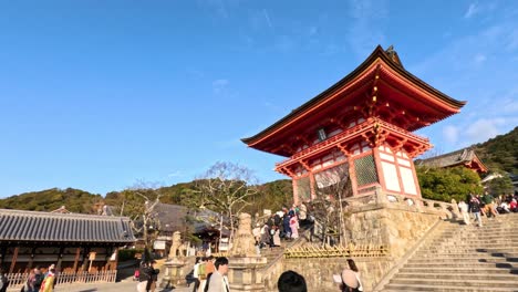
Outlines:
[[[388,249],[374,244],[349,244],[346,247],[299,247],[284,250],[284,258],[380,258],[386,257]]]

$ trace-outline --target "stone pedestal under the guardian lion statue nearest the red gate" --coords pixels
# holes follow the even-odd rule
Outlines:
[[[232,257],[228,259],[230,291],[263,291],[265,284],[259,269],[267,263],[261,257]]]

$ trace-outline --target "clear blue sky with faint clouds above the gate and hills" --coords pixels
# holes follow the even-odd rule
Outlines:
[[[462,113],[444,153],[518,125],[516,1],[0,1],[0,197],[190,181],[218,160],[279,178],[251,136],[381,44]]]

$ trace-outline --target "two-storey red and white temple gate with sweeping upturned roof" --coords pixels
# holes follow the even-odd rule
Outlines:
[[[465,103],[406,71],[392,46],[377,46],[349,75],[242,142],[287,157],[276,170],[292,178],[296,202],[332,196],[327,188],[343,179],[351,182],[345,197],[421,198],[413,159],[432,144],[413,132]]]

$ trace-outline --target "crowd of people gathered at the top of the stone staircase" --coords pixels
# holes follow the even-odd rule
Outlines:
[[[470,194],[466,201],[458,202],[458,209],[466,225],[472,223],[469,213],[478,227],[483,227],[483,217],[495,218],[503,213],[518,212],[518,195],[493,197],[488,191],[483,196]]]

